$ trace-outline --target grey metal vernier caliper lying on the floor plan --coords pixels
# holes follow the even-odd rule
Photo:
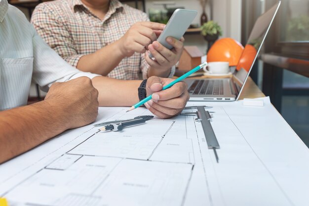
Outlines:
[[[181,115],[186,115],[186,116],[197,116],[195,119],[196,122],[201,123],[203,126],[205,138],[207,141],[208,149],[213,149],[217,163],[219,163],[219,157],[217,154],[216,149],[220,149],[220,145],[218,143],[217,137],[215,135],[215,132],[210,124],[211,122],[211,115],[209,114],[208,111],[205,111],[205,109],[209,109],[212,107],[207,107],[207,106],[192,106],[192,107],[185,107],[184,110],[189,110],[189,109],[197,109],[196,112],[187,112],[187,113],[181,113]]]

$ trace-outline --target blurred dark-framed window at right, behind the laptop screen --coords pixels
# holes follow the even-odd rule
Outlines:
[[[309,147],[309,0],[281,0],[262,60],[263,92]]]

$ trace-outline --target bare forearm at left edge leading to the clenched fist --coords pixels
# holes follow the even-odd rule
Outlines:
[[[0,163],[66,130],[62,115],[46,101],[0,112]]]

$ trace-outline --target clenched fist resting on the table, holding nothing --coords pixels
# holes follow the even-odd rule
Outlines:
[[[60,108],[67,129],[90,124],[98,115],[98,90],[87,77],[53,83],[45,101]]]

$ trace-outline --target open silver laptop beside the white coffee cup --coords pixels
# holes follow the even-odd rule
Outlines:
[[[189,101],[235,101],[246,83],[253,64],[270,30],[273,19],[279,9],[278,1],[255,22],[247,44],[242,51],[231,78],[224,79],[186,79]]]

